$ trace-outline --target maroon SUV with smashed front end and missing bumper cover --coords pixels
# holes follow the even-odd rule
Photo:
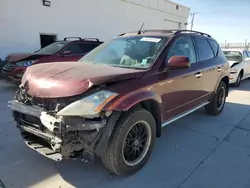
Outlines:
[[[228,82],[229,64],[209,35],[146,30],[76,63],[29,67],[8,106],[30,148],[57,161],[100,157],[125,176],[145,165],[162,127],[201,107],[219,115]]]

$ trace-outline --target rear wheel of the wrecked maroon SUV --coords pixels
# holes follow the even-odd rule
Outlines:
[[[205,106],[207,114],[217,116],[224,109],[225,101],[227,96],[227,85],[225,82],[221,81],[217,91],[214,95],[213,100]]]

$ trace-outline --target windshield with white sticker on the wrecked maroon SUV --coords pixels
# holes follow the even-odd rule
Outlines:
[[[147,69],[154,63],[167,40],[167,37],[120,37],[103,43],[79,61]]]

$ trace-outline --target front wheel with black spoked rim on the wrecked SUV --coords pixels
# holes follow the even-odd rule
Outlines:
[[[103,164],[120,176],[139,171],[148,161],[156,138],[152,114],[142,108],[126,112],[110,137]]]

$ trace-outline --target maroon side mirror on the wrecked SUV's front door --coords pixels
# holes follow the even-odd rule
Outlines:
[[[186,69],[189,67],[189,58],[186,56],[172,56],[167,63],[168,69]]]

